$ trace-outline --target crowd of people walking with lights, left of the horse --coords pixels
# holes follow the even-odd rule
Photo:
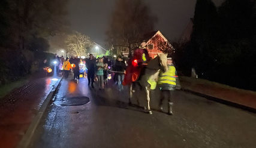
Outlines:
[[[124,80],[125,69],[127,67],[126,61],[122,56],[115,59],[111,57],[98,57],[95,58],[93,54],[89,54],[88,58],[80,59],[77,56],[71,58],[59,57],[55,54],[53,58],[56,61],[56,71],[59,76],[64,76],[65,79],[73,75],[74,80],[80,79],[80,63],[85,63],[88,78],[88,86],[95,88],[94,83],[97,81],[98,88],[103,90],[107,84],[108,78],[113,78],[115,84],[118,85],[119,90],[124,90],[122,81]]]

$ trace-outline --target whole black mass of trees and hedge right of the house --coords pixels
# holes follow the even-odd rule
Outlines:
[[[200,78],[256,90],[255,0],[226,0],[218,8],[197,0],[191,41],[176,46],[185,75],[195,67]]]

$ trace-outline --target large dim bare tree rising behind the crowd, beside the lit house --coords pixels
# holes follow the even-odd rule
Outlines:
[[[107,41],[119,52],[138,47],[146,33],[153,31],[156,18],[141,0],[116,1]]]

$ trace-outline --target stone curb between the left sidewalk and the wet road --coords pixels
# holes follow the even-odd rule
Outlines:
[[[41,121],[41,118],[43,117],[44,112],[46,112],[47,106],[52,100],[56,90],[58,90],[61,84],[61,81],[62,81],[62,78],[58,82],[56,82],[56,84],[52,88],[52,91],[50,91],[50,93],[47,95],[46,99],[44,100],[44,103],[38,110],[37,115],[34,117],[28,129],[26,130],[25,134],[23,135],[22,140],[20,140],[19,144],[17,145],[17,148],[25,148],[29,146],[29,143],[31,142],[31,138],[34,135],[35,129],[37,128],[39,122]]]

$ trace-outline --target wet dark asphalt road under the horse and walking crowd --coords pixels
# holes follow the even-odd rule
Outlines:
[[[177,91],[169,116],[158,112],[155,91],[149,115],[142,92],[137,107],[112,85],[96,91],[86,79],[61,83],[30,147],[255,147],[255,113]]]

